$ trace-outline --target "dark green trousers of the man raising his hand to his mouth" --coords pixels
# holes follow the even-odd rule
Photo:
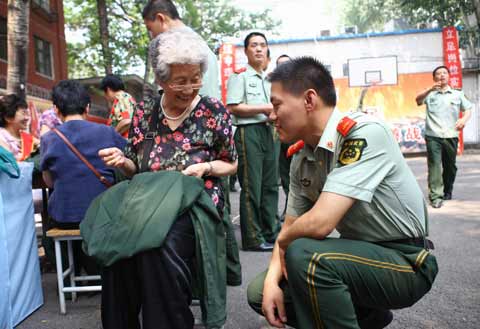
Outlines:
[[[430,201],[451,194],[457,174],[458,138],[426,137],[428,164],[428,191]],[[443,169],[443,170],[442,170]]]

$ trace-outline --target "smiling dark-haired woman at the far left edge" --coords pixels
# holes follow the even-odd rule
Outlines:
[[[27,102],[14,94],[0,99],[0,143],[23,161],[38,147],[38,140],[26,132],[30,122]]]

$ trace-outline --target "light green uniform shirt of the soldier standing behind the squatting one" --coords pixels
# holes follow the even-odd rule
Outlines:
[[[247,104],[263,105],[270,103],[272,85],[267,80],[265,72],[259,74],[253,67],[247,65],[246,70],[234,73],[228,79],[227,105]],[[233,124],[236,126],[266,122],[265,114],[256,114],[248,118],[232,115]]]

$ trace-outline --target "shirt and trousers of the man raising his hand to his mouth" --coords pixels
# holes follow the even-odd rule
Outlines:
[[[425,140],[427,142],[428,189],[430,201],[451,195],[457,166],[458,130],[455,123],[460,111],[472,108],[463,91],[448,87],[432,91],[424,100],[427,106]],[[442,173],[443,166],[443,173]]]

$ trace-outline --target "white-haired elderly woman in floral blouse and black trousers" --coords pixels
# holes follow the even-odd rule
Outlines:
[[[202,178],[221,214],[220,177],[236,172],[236,152],[229,112],[217,99],[198,94],[208,61],[206,45],[188,30],[170,30],[151,42],[149,55],[163,93],[137,105],[125,152],[110,148],[100,155],[127,176],[176,170]],[[105,268],[103,328],[140,328],[140,309],[144,329],[192,328],[190,264],[194,255],[192,220],[183,214],[162,247]]]

